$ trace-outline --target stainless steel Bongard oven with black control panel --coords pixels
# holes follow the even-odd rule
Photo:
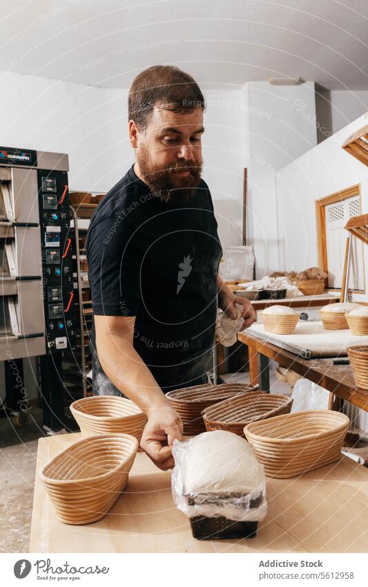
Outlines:
[[[55,347],[52,328],[63,326],[65,338],[64,323],[48,315],[45,298],[48,282],[55,285],[52,279],[63,285],[62,265],[56,269],[54,262],[47,264],[46,236],[58,236],[65,224],[68,228],[68,216],[61,211],[67,171],[64,154],[0,147],[0,360],[44,355],[46,348]],[[51,199],[55,207],[48,205]],[[63,259],[61,241],[52,247]],[[72,290],[72,283],[68,288]],[[67,344],[64,338],[61,348]]]

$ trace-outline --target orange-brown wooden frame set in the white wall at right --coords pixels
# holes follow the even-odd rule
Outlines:
[[[318,267],[328,272],[327,265],[327,236],[326,236],[326,206],[329,204],[336,204],[347,200],[352,196],[359,196],[360,209],[362,209],[362,194],[360,193],[360,183],[351,185],[345,189],[340,189],[339,192],[334,192],[329,196],[316,200],[316,228],[317,228],[317,250],[318,250]],[[347,236],[349,234],[347,233]],[[363,276],[364,276],[364,290],[351,290],[352,293],[365,294],[365,263],[364,263],[364,250],[363,250]],[[328,277],[326,278],[326,287],[328,286]],[[340,290],[341,288],[333,288]]]

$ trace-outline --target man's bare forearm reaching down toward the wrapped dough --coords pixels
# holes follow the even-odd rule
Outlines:
[[[109,332],[97,336],[96,343],[101,367],[119,391],[145,413],[168,405],[162,389],[128,337]]]

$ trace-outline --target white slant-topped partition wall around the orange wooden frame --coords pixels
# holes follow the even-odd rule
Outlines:
[[[315,201],[360,183],[362,212],[368,210],[367,167],[341,148],[347,137],[368,123],[368,113],[314,147],[276,174],[280,270],[318,265]],[[368,293],[368,252],[365,279]],[[354,294],[357,301],[368,301]]]

